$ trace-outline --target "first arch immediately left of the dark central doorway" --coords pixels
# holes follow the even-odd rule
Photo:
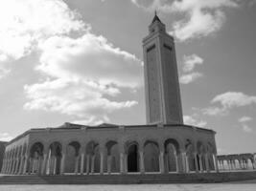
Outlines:
[[[119,145],[116,140],[108,140],[105,143],[106,156],[105,166],[108,173],[117,173],[120,171]]]

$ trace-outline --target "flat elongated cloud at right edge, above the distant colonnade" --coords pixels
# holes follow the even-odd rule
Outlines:
[[[221,106],[211,106],[203,109],[205,115],[227,115],[233,108],[256,104],[256,96],[247,96],[241,92],[226,92],[215,96],[211,100],[211,104],[221,104]]]

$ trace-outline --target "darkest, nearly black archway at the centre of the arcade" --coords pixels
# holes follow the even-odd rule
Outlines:
[[[139,171],[138,144],[131,143],[128,146],[128,172]]]

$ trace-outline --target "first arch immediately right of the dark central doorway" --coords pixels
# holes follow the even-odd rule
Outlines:
[[[146,140],[143,145],[146,172],[159,172],[159,145],[154,140]]]

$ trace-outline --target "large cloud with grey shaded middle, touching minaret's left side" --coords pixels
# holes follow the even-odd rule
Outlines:
[[[142,85],[142,63],[134,55],[114,48],[105,37],[90,32],[80,38],[54,36],[39,45],[37,70],[53,77],[81,78],[111,87]]]

